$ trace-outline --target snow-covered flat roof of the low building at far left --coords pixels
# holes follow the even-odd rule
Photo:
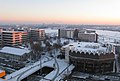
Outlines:
[[[7,54],[13,54],[13,55],[23,55],[25,53],[29,53],[30,50],[27,48],[25,49],[20,49],[20,48],[14,48],[14,47],[3,47],[0,52],[2,53],[7,53]]]

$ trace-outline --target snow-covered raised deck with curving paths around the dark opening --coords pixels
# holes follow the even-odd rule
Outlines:
[[[10,75],[7,75],[5,77],[5,81],[27,81],[27,78],[28,81],[33,81],[33,79],[36,79],[36,81],[57,81],[64,78],[65,74],[68,74],[68,70],[70,73],[74,68],[73,65],[69,65],[64,60],[56,58],[44,58],[41,60],[41,63],[42,68],[40,66],[40,61],[37,61],[32,65],[26,66]],[[41,69],[43,72],[40,74]],[[50,71],[48,70],[45,72],[45,69],[49,69]]]

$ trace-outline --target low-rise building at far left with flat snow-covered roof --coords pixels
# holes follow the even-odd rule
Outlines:
[[[0,50],[0,57],[8,60],[26,61],[30,57],[31,51],[26,49],[3,47]]]

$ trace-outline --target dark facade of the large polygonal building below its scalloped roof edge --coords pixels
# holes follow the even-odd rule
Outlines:
[[[84,52],[69,51],[70,63],[75,65],[75,69],[88,73],[108,73],[113,71],[114,54],[93,54]]]

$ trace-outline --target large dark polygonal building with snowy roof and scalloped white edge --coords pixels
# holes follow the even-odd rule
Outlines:
[[[115,54],[99,43],[75,42],[62,47],[67,62],[75,65],[75,70],[89,73],[113,72]]]

